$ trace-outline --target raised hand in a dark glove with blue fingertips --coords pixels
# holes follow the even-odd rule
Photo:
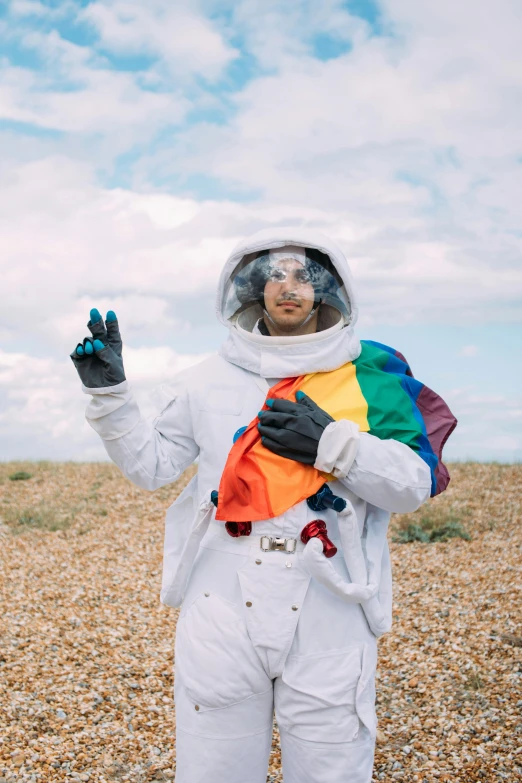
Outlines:
[[[125,380],[125,371],[116,313],[109,310],[104,323],[100,312],[93,308],[87,328],[92,338],[85,337],[71,353],[83,385],[88,389],[117,386]]]

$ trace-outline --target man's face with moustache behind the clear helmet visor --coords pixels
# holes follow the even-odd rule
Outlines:
[[[310,315],[315,298],[306,269],[294,258],[284,258],[272,267],[264,297],[272,321],[290,333]]]

